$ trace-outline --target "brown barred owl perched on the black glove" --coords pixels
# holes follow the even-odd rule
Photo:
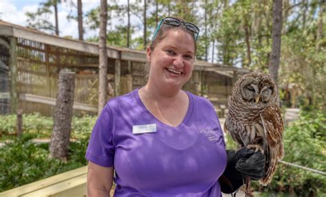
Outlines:
[[[224,124],[224,132],[240,147],[255,149],[265,156],[265,173],[259,180],[264,186],[271,182],[278,160],[284,156],[283,121],[276,93],[277,87],[267,74],[244,74],[228,98]]]

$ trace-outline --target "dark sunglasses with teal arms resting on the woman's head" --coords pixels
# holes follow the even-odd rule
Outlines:
[[[154,39],[156,37],[156,34],[157,34],[158,30],[160,30],[161,25],[162,25],[163,22],[166,25],[173,25],[173,26],[180,26],[183,23],[184,26],[187,28],[187,30],[189,30],[189,31],[196,34],[195,40],[197,41],[198,34],[199,34],[199,28],[195,24],[188,23],[188,22],[185,22],[185,21],[180,21],[179,19],[175,19],[173,17],[166,17],[166,18],[162,19],[160,21],[160,25],[157,26],[157,29],[155,30],[155,33],[154,33],[153,38],[152,38],[152,42],[154,41]]]

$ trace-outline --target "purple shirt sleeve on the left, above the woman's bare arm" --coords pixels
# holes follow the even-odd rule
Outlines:
[[[113,116],[105,105],[94,125],[85,158],[103,167],[113,166],[116,147],[113,145]]]

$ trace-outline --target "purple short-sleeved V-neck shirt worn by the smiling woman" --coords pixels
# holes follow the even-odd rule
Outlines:
[[[138,90],[105,105],[86,158],[116,169],[114,196],[221,196],[218,178],[226,167],[221,125],[208,100],[186,93],[188,111],[177,127],[146,110]],[[146,133],[133,134],[136,127]]]

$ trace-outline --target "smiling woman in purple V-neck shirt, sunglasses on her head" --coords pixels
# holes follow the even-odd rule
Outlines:
[[[219,120],[208,100],[182,90],[193,72],[198,34],[192,23],[162,19],[147,48],[146,85],[111,99],[94,126],[86,154],[88,196],[109,196],[113,170],[115,196],[221,196],[227,154]],[[237,187],[242,178],[233,181]],[[232,178],[224,180],[225,188],[237,189]]]

